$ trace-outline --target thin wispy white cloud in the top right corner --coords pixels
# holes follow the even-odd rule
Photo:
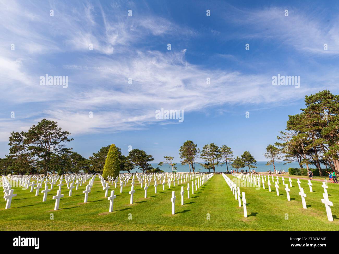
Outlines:
[[[285,16],[282,7],[269,7],[258,10],[240,10],[233,6],[224,15],[242,29],[233,36],[238,38],[260,38],[272,40],[277,44],[286,44],[294,49],[312,54],[339,54],[339,15],[327,23],[320,11],[288,9]],[[316,15],[317,14],[317,15]],[[232,36],[232,35],[230,35]],[[324,50],[324,43],[328,50]]]

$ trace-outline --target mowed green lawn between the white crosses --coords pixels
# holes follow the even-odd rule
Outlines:
[[[230,176],[232,179],[234,177]],[[235,178],[236,180],[236,178]],[[280,196],[266,189],[240,187],[247,199],[248,218],[243,216],[243,207],[238,207],[230,188],[221,175],[215,175],[187,199],[187,183],[179,184],[165,190],[158,185],[154,193],[154,183],[148,188],[148,197],[140,184],[135,185],[134,204],[129,204],[131,181],[115,190],[114,211],[108,213],[109,201],[104,197],[104,190],[99,178],[96,178],[88,202],[83,203],[85,185],[79,190],[73,189],[68,197],[64,185],[58,211],[54,211],[57,186],[48,193],[47,201],[42,202],[42,194],[15,187],[17,197],[13,198],[10,209],[4,209],[4,199],[0,202],[0,227],[2,230],[338,230],[339,229],[339,185],[328,184],[329,198],[333,201],[334,221],[327,221],[325,206],[321,203],[323,188],[321,182],[313,181],[314,192],[310,193],[307,181],[301,180],[306,193],[307,209],[302,208],[298,194],[298,184],[293,180],[292,201],[287,201],[280,178]],[[179,181],[180,182],[180,181]],[[88,182],[87,182],[88,183]],[[287,183],[287,181],[286,181]],[[184,205],[181,205],[180,189],[184,186]],[[171,195],[175,191],[176,214],[171,214]],[[51,218],[53,214],[54,219]],[[209,216],[208,216],[209,214]],[[288,215],[288,219],[285,219]],[[132,219],[129,219],[131,218]],[[210,219],[207,219],[207,218]]]

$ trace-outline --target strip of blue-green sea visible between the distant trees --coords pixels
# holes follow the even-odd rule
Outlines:
[[[264,171],[268,171],[271,169],[271,171],[273,170],[273,165],[270,166],[266,166],[265,164],[267,163],[267,161],[258,161],[257,164],[255,166],[257,166],[257,168],[255,168],[255,170],[257,172],[264,172]],[[276,170],[285,170],[285,172],[288,172],[288,168],[290,167],[299,167],[298,162],[292,162],[292,163],[288,163],[286,165],[284,165],[284,163],[286,163],[285,161],[278,161],[275,162],[275,167]],[[168,164],[164,164],[162,166],[158,166],[158,163],[151,163],[152,166],[154,168],[159,167],[161,170],[165,171],[165,172],[172,172],[172,167],[169,166]],[[181,165],[181,163],[177,163],[176,165],[177,167],[177,172],[190,172],[190,167],[188,165]],[[315,168],[315,166],[311,166],[312,168]],[[231,169],[233,170],[233,168],[231,167],[231,165],[228,165],[228,170],[231,171]],[[244,170],[247,169],[248,172],[248,167],[243,168]],[[208,170],[204,169],[199,163],[195,164],[195,171],[201,171],[201,172],[207,172]],[[235,169],[236,170],[236,169]],[[239,169],[240,170],[240,169]],[[136,173],[136,172],[141,172],[140,169],[134,169],[131,171],[131,173]],[[211,170],[213,171],[213,170]],[[226,164],[222,165],[222,166],[218,166],[215,169],[216,172],[225,172],[226,171]]]

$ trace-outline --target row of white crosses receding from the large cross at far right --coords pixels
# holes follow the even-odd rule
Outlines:
[[[247,180],[249,181],[251,179],[251,182],[253,183],[252,181],[252,178],[254,179],[254,184],[255,184],[255,179],[257,177],[257,180],[258,180],[258,186],[260,187],[260,175],[259,177],[254,175],[252,176],[252,174],[246,174],[246,173],[232,173],[233,176],[237,177],[237,178],[240,178],[240,179],[243,179],[243,180]],[[266,175],[264,175],[265,177],[265,180],[266,180]],[[273,175],[271,176],[272,177],[272,182],[274,182],[274,178],[273,178]],[[268,191],[271,192],[271,183],[270,183],[270,176],[267,176],[268,178],[268,181],[267,181],[267,184],[268,184]],[[262,184],[263,184],[263,188],[265,189],[265,185],[264,185],[264,180],[263,180],[263,176],[261,175],[261,179],[262,179]],[[279,196],[279,178],[278,176],[276,176],[276,182],[275,182],[275,187],[276,187],[276,193],[277,193],[277,196]],[[285,179],[284,177],[282,176],[282,183],[283,185],[285,185],[285,191],[286,191],[286,196],[287,196],[287,200],[288,201],[291,201],[291,198],[290,198],[290,188],[288,187],[288,184],[285,184]],[[288,181],[290,182],[290,187],[292,187],[292,179],[291,177],[289,177]],[[297,184],[298,184],[298,187],[299,187],[299,195],[301,197],[301,203],[302,203],[302,207],[304,209],[307,209],[307,205],[306,205],[306,194],[304,193],[304,188],[301,187],[301,182],[299,180],[299,178],[297,178]],[[255,184],[256,185],[256,184]],[[309,186],[310,188],[310,192],[313,192],[313,189],[312,189],[312,182],[311,180],[308,180],[308,183],[307,185]],[[323,181],[322,182],[322,186],[324,188],[324,193],[323,193],[323,199],[321,199],[321,202],[325,204],[325,209],[326,209],[326,214],[327,214],[327,219],[329,221],[333,221],[333,216],[332,216],[332,211],[331,211],[331,206],[333,206],[333,202],[331,202],[329,199],[328,199],[328,194],[327,194],[327,180]]]

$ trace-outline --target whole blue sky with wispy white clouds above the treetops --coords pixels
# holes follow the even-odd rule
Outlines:
[[[179,161],[193,140],[264,160],[306,94],[338,93],[338,13],[338,1],[0,1],[0,156],[11,131],[46,118],[84,157],[114,143]],[[300,88],[273,86],[278,73]],[[68,87],[40,86],[45,74]],[[161,108],[184,121],[156,119]]]

